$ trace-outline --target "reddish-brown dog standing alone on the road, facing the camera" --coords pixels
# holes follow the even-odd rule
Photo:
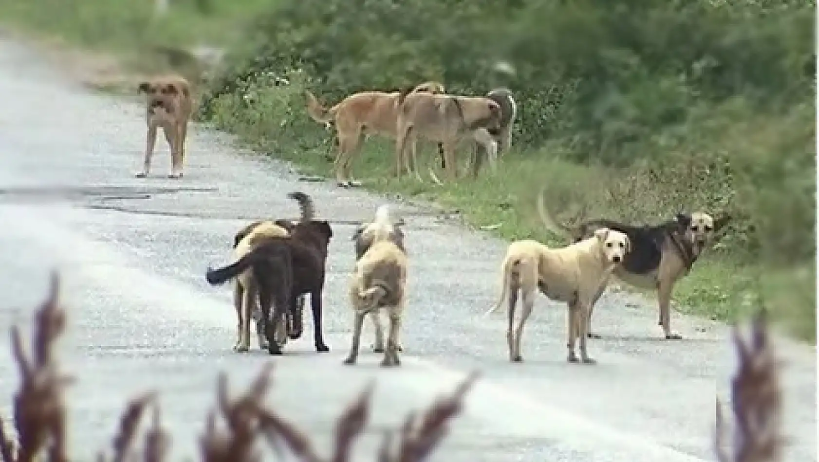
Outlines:
[[[148,176],[151,158],[156,146],[156,132],[162,128],[170,148],[169,178],[181,178],[185,161],[185,140],[188,137],[188,122],[191,119],[192,97],[188,80],[180,75],[167,75],[139,83],[139,92],[146,94],[145,119],[147,122],[147,144],[143,170],[138,178]]]

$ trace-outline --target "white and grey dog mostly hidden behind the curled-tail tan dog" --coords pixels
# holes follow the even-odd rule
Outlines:
[[[369,250],[373,242],[387,238],[396,244],[398,249],[406,254],[404,246],[404,231],[401,229],[405,225],[403,218],[393,220],[390,217],[389,206],[382,205],[375,212],[375,218],[369,223],[360,223],[355,227],[351,240],[355,246],[355,261],[358,262],[364,253]],[[373,321],[373,329],[375,330],[375,343],[373,343],[374,352],[384,351],[384,333],[381,327],[381,319],[378,312],[370,314],[370,321]],[[399,352],[403,352],[400,342],[396,338],[397,348]]]

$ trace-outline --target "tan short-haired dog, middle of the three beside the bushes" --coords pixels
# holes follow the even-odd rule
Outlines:
[[[396,177],[400,177],[402,168],[418,176],[416,144],[419,138],[441,143],[446,176],[450,180],[457,177],[455,148],[465,140],[480,144],[486,150],[491,168],[496,169],[497,144],[491,132],[499,129],[502,117],[497,102],[486,97],[421,92],[401,93],[398,102]],[[406,152],[408,148],[411,158]]]

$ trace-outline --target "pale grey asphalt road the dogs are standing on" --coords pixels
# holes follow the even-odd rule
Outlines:
[[[274,361],[271,405],[316,435],[325,452],[333,418],[370,379],[375,406],[371,431],[356,447],[362,455],[373,454],[382,428],[477,369],[483,379],[433,460],[713,460],[714,396],[725,399],[735,366],[725,326],[675,314],[686,339],[659,340],[654,301],[607,294],[595,311],[605,338],[590,343],[600,363],[568,365],[563,307],[539,298],[526,362],[510,364],[504,315],[481,316],[497,295],[504,244],[398,206],[412,253],[404,366],[381,370],[380,357],[366,350],[359,366],[342,366],[351,332],[350,222],[368,218],[381,199],[298,182],[287,165],[238,153],[229,138],[201,128],[190,137],[183,181],[159,177],[169,163],[161,144],[156,177],[136,180],[144,137],[138,107],[60,78],[15,43],[0,42],[0,95],[0,331],[29,321],[57,267],[70,312],[61,358],[79,376],[70,391],[78,455],[110,446],[125,399],[152,388],[161,392],[174,454],[194,455],[217,372],[228,371],[236,388]],[[41,192],[20,189],[27,187]],[[313,195],[336,233],[324,295],[332,351],[314,352],[308,325],[283,357],[234,353],[229,286],[206,285],[204,271],[225,261],[248,220],[295,217],[286,198],[295,190]],[[367,346],[372,333],[365,335]],[[815,349],[779,346],[788,460],[815,461]],[[16,369],[0,348],[4,415],[15,387]]]

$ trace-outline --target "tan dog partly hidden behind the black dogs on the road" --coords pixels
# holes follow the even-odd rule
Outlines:
[[[256,248],[259,242],[269,237],[288,237],[290,231],[272,221],[252,222],[244,227],[236,235],[235,246],[231,255],[231,261],[236,262],[239,258],[244,257],[251,250]],[[250,338],[250,324],[251,317],[256,311],[256,297],[258,291],[256,289],[256,281],[253,278],[253,271],[246,270],[237,276],[233,283],[233,307],[236,308],[236,316],[238,319],[237,325],[237,339],[236,344],[233,345],[233,350],[236,352],[247,352],[251,346]],[[284,330],[287,326],[284,323],[279,324]],[[259,340],[260,348],[267,348],[267,339],[265,339],[264,332],[256,330]],[[280,343],[284,343],[287,339],[287,334],[284,332],[276,332],[276,339]]]

